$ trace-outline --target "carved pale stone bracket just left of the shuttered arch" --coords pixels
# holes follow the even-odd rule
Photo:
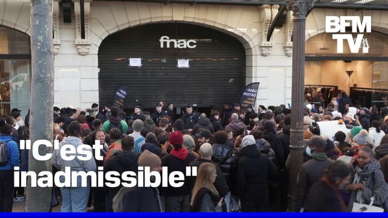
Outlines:
[[[76,16],[76,39],[75,45],[77,47],[77,51],[80,55],[87,55],[90,50],[90,45],[92,43],[89,39],[89,16],[90,16],[90,3],[93,0],[84,0],[84,30],[85,37],[82,39],[81,37],[81,0],[73,0],[74,2],[74,14]]]

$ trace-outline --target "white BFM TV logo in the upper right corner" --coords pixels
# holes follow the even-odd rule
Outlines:
[[[372,16],[364,16],[362,22],[359,16],[326,16],[326,32],[345,32],[346,27],[352,27],[352,32],[371,32],[371,26]],[[351,53],[358,53],[361,44],[362,53],[369,52],[368,40],[364,38],[364,34],[357,34],[356,38],[352,34],[333,34],[333,39],[337,39],[337,53],[343,53],[344,39],[348,41]]]

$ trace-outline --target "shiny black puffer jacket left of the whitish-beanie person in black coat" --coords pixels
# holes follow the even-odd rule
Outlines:
[[[213,144],[213,156],[211,160],[221,169],[225,175],[226,184],[232,194],[236,193],[237,181],[237,157],[233,153],[233,149],[223,144]]]

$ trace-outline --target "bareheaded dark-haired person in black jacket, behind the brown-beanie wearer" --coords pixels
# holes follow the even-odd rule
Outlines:
[[[132,171],[137,172],[138,171],[138,154],[133,152],[133,146],[134,146],[134,140],[133,137],[126,136],[121,139],[121,150],[114,153],[113,156],[109,157],[104,162],[104,174],[106,174],[109,171],[116,171],[120,175],[124,173],[125,171]],[[121,182],[126,182],[124,180],[121,180]],[[120,186],[118,187],[107,187],[107,197],[108,197],[108,212],[113,212],[113,198],[118,193],[118,191],[123,187],[120,183]],[[105,205],[105,198],[104,198],[104,205]],[[95,210],[96,208],[96,202],[95,202]],[[104,211],[102,211],[104,212]]]

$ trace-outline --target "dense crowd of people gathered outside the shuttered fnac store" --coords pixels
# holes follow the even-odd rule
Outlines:
[[[79,178],[76,187],[52,189],[52,206],[61,205],[63,212],[346,212],[354,203],[373,201],[387,210],[388,107],[367,109],[348,99],[340,105],[305,107],[294,208],[288,207],[291,109],[285,105],[259,105],[256,112],[253,106],[225,104],[210,116],[187,105],[180,118],[172,103],[162,101],[153,113],[138,104],[130,115],[109,105],[83,111],[55,107],[52,139],[60,148],[99,140],[103,160],[65,160],[54,152],[53,172],[103,167],[104,173],[122,174],[167,167],[168,174],[181,171],[185,177],[181,187],[81,187]],[[0,146],[8,148],[5,165],[0,158],[0,211],[24,200],[24,189],[14,188],[10,175],[14,166],[28,170],[28,152],[17,143],[29,139],[29,115],[22,122],[20,111],[14,112],[0,120]],[[345,123],[349,134],[338,131],[334,140],[313,134],[314,123],[333,120]],[[186,175],[189,166],[197,167],[196,176]]]

